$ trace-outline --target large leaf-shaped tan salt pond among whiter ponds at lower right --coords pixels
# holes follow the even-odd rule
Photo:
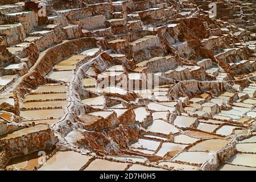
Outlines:
[[[209,139],[195,144],[188,151],[217,151],[224,148],[228,143],[229,140],[225,139]]]

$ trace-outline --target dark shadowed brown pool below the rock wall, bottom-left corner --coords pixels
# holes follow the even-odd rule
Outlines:
[[[44,151],[46,152],[46,157],[51,154],[51,151]],[[13,158],[11,159],[7,166],[6,169],[23,169],[23,170],[28,170],[31,171],[35,169],[36,166],[39,166],[39,164],[42,164],[44,161],[43,156],[41,156],[41,152],[34,152],[32,154],[20,156],[18,158]]]

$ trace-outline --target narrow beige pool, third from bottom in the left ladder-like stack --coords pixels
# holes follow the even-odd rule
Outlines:
[[[24,101],[46,101],[46,100],[64,100],[66,93],[32,94],[28,95]]]

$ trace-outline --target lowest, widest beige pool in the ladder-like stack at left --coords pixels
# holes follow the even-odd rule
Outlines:
[[[26,119],[48,119],[60,118],[64,115],[63,109],[41,109],[41,110],[23,110],[20,116]]]

